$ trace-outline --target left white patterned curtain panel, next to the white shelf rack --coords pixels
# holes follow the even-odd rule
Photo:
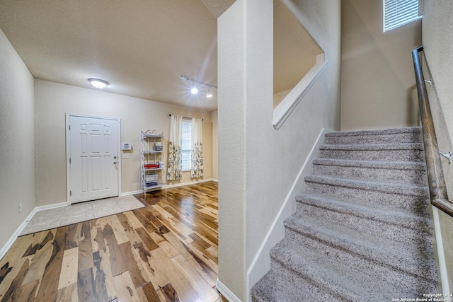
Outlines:
[[[167,180],[180,180],[183,178],[183,169],[181,167],[181,144],[183,139],[183,117],[171,115],[170,117],[170,135],[168,137],[168,165]]]

